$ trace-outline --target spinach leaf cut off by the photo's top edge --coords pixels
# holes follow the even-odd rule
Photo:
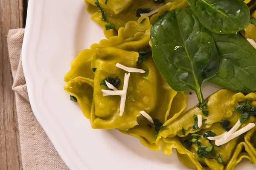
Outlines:
[[[188,0],[200,23],[216,34],[241,31],[250,21],[250,10],[243,0]]]

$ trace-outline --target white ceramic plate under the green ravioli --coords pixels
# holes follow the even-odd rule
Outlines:
[[[79,105],[64,92],[63,77],[71,60],[105,38],[85,6],[83,0],[29,0],[22,62],[38,122],[71,170],[188,169],[178,161],[175,151],[165,156],[117,130],[93,130]],[[218,89],[203,86],[205,97]],[[191,108],[197,99],[188,96]],[[237,166],[241,167],[253,168],[248,161]]]

